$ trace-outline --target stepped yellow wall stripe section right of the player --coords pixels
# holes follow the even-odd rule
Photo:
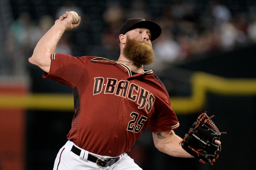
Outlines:
[[[198,112],[205,106],[206,93],[212,92],[227,96],[256,95],[256,79],[223,78],[213,74],[195,72],[191,77],[190,97],[171,97],[175,112],[187,114]]]

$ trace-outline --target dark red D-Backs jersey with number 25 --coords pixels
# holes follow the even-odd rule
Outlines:
[[[68,140],[115,157],[130,151],[148,126],[151,132],[178,128],[165,86],[152,70],[132,75],[124,64],[94,58],[52,54],[50,71],[43,74],[73,89],[75,115]]]

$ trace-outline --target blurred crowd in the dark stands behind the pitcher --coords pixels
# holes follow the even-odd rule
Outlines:
[[[5,2],[3,4],[3,2]],[[28,75],[28,58],[38,40],[66,11],[76,11],[81,25],[66,32],[55,53],[97,55],[118,59],[118,32],[128,18],[153,20],[162,27],[153,42],[155,63],[180,63],[191,56],[230,51],[256,42],[256,5],[253,1],[113,0],[113,1],[2,1],[12,20],[1,30],[0,75]],[[54,9],[54,10],[53,10]]]

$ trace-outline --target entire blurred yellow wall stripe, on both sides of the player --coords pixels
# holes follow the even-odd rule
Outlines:
[[[212,92],[228,96],[256,95],[256,79],[223,78],[212,74],[195,72],[191,77],[190,97],[171,97],[176,113],[189,114],[203,109],[206,93]],[[27,96],[1,95],[1,108],[24,108],[28,110],[73,111],[72,94],[29,94]]]

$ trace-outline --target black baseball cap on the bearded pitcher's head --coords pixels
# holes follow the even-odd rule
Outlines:
[[[145,20],[144,18],[130,18],[121,26],[119,30],[120,34],[125,34],[126,32],[133,30],[134,28],[146,28],[151,32],[151,41],[157,39],[162,32],[161,27],[150,20]]]

